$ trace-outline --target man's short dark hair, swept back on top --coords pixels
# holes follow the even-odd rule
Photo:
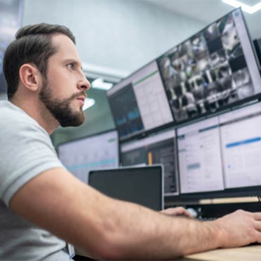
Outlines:
[[[6,49],[3,60],[8,100],[13,98],[18,89],[19,69],[23,64],[33,63],[41,74],[46,76],[48,58],[58,51],[51,39],[53,34],[65,34],[76,44],[72,32],[63,25],[41,23],[18,29],[15,40]]]

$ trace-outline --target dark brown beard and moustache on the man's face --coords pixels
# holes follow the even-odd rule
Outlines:
[[[70,98],[57,99],[53,98],[51,85],[48,83],[47,77],[44,77],[43,86],[39,93],[39,99],[44,103],[48,111],[55,117],[62,127],[80,126],[84,119],[83,111],[74,112],[70,107],[73,100],[79,97],[79,95],[85,95],[85,92],[75,93]]]

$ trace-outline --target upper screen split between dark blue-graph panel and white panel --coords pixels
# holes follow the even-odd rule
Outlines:
[[[173,123],[155,61],[117,83],[107,97],[120,140]]]

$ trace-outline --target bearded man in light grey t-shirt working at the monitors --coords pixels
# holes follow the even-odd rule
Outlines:
[[[6,50],[4,74],[0,260],[69,260],[65,241],[102,260],[173,260],[261,243],[261,213],[239,210],[212,222],[170,216],[175,210],[163,215],[111,199],[62,166],[48,135],[83,122],[90,88],[66,27],[20,29]]]

